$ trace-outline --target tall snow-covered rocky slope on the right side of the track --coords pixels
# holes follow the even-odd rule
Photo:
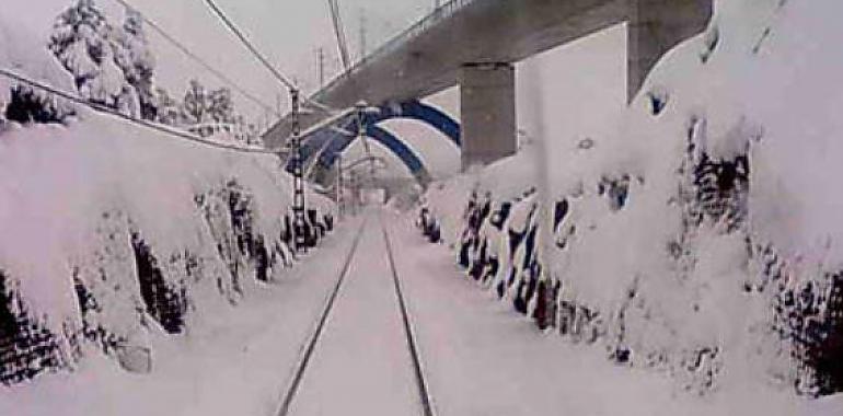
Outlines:
[[[841,12],[833,0],[718,1],[620,131],[548,155],[556,221],[531,213],[528,147],[431,186],[446,241],[517,309],[689,392],[843,390]],[[552,230],[546,256],[531,245],[536,224]],[[561,286],[544,285],[547,269]]]

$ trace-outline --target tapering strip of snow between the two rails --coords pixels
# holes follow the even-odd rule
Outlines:
[[[360,246],[290,415],[406,415],[420,411],[386,245],[370,211]],[[402,242],[403,243],[403,242]]]

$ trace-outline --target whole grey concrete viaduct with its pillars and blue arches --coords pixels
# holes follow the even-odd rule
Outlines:
[[[517,150],[515,62],[626,22],[627,100],[632,101],[665,53],[705,30],[712,1],[452,0],[312,99],[334,108],[360,101],[381,107],[383,116],[367,117],[369,134],[369,125],[384,119],[420,119],[460,146],[463,169],[486,164]],[[454,85],[460,85],[461,125],[418,102]],[[314,112],[303,116],[303,124],[312,126],[326,117]],[[346,128],[356,123],[346,119],[339,124]],[[330,167],[333,153],[343,151],[353,139],[336,130],[326,128],[307,137],[305,159],[319,159],[312,162]],[[373,130],[381,138],[384,131]],[[269,129],[264,141],[277,148],[289,136],[288,117]],[[394,146],[388,147],[395,152]],[[406,147],[401,151],[409,152],[396,153],[405,163],[418,160]],[[419,181],[426,180],[424,166],[408,167]]]

